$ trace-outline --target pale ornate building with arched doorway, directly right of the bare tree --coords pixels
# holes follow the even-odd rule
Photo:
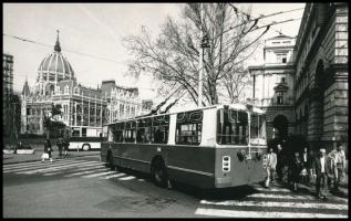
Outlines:
[[[264,65],[249,66],[255,105],[266,110],[267,137],[282,139],[295,133],[293,115],[295,38],[278,35],[266,40]]]

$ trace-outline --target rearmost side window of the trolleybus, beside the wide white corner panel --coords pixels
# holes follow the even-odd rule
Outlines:
[[[177,114],[176,144],[199,145],[202,143],[203,110]]]

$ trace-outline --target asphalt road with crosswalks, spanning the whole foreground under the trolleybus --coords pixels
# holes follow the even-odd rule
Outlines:
[[[4,218],[347,218],[348,197],[259,185],[203,191],[111,171],[97,156],[3,166]]]

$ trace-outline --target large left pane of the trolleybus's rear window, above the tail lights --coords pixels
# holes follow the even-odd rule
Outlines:
[[[248,114],[236,109],[218,109],[217,143],[219,145],[247,145]]]

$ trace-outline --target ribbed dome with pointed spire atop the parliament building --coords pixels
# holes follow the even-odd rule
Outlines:
[[[42,60],[38,69],[38,82],[59,82],[74,78],[74,71],[69,61],[61,54],[59,32],[54,51]]]

